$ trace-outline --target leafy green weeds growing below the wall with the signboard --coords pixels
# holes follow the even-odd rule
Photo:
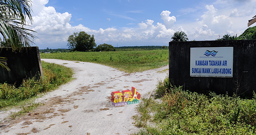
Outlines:
[[[136,135],[255,135],[256,96],[253,99],[203,95],[169,87],[160,81],[156,96],[143,98],[134,115],[142,127]]]

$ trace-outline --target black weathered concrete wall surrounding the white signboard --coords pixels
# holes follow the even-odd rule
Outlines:
[[[233,78],[190,77],[190,48],[233,47]],[[169,42],[169,79],[195,92],[252,96],[256,92],[256,40]]]

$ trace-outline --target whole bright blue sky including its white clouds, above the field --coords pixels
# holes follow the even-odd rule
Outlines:
[[[189,40],[240,35],[256,15],[256,0],[32,0],[31,29],[40,49],[67,48],[74,32],[96,44],[168,45],[175,31]],[[255,26],[251,25],[250,27]]]

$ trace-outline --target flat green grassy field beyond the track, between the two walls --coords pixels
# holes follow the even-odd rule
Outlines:
[[[133,73],[168,65],[169,50],[41,53],[41,58],[93,62]]]

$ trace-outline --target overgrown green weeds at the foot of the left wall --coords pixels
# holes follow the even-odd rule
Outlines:
[[[61,84],[71,80],[73,71],[70,68],[42,61],[44,76],[23,80],[20,86],[0,84],[0,109],[17,105],[20,101],[37,96],[38,93],[54,90]]]

